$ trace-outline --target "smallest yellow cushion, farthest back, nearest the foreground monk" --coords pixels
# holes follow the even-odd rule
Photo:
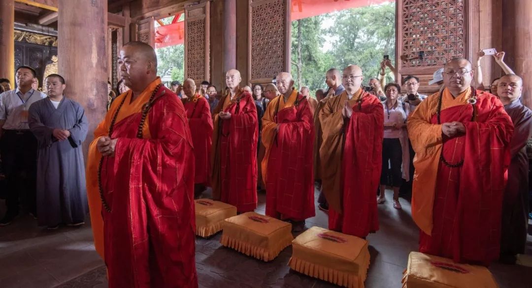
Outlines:
[[[223,228],[223,220],[236,215],[236,207],[210,199],[194,200],[196,235],[209,237]]]

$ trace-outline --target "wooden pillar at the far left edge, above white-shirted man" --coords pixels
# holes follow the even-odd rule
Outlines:
[[[15,1],[0,1],[0,78],[15,87]]]

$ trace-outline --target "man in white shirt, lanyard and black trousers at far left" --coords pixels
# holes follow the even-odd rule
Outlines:
[[[46,94],[31,88],[36,72],[29,66],[16,69],[15,90],[0,94],[0,143],[2,165],[6,177],[7,211],[0,226],[11,224],[19,214],[20,185],[16,179],[20,170],[26,171],[22,181],[29,213],[36,216],[37,141],[28,126],[28,110],[32,103],[46,98]]]

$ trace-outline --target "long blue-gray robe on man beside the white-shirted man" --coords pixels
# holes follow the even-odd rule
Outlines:
[[[88,211],[85,164],[81,143],[87,136],[88,121],[77,102],[63,97],[57,109],[42,99],[29,109],[29,126],[38,141],[37,215],[39,225],[79,223]],[[54,128],[69,130],[59,141]]]

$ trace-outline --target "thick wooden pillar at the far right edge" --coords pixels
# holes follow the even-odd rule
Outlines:
[[[502,46],[504,62],[523,77],[523,104],[532,109],[532,1],[505,0],[502,4]]]

